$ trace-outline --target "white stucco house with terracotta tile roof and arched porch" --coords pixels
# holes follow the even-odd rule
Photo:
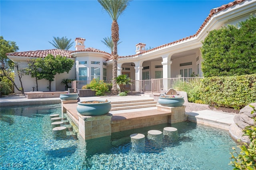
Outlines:
[[[175,42],[160,45],[153,49],[145,50],[145,43],[136,44],[135,54],[119,56],[118,75],[126,74],[132,80],[166,79],[177,77],[190,77],[194,72],[202,77],[200,47],[202,40],[210,30],[221,28],[228,24],[237,24],[246,20],[250,14],[256,13],[256,0],[235,0],[218,8],[213,8],[205,21],[199,26],[198,31],[186,38]],[[65,90],[60,82],[62,79],[76,79],[90,81],[93,78],[102,80],[112,79],[112,59],[110,53],[96,48],[85,46],[84,38],[75,39],[75,50],[46,49],[38,51],[25,51],[7,53],[7,57],[20,68],[27,67],[27,59],[45,57],[48,53],[62,55],[75,61],[69,73],[56,75],[52,82],[52,91]],[[36,86],[35,79],[30,75],[22,77],[24,92],[31,91]],[[18,78],[15,82],[19,85]],[[48,91],[48,81],[39,80],[39,91]],[[18,91],[15,91],[18,93]]]

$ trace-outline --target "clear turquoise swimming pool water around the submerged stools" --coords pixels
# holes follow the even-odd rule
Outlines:
[[[49,115],[61,116],[60,104],[1,107],[0,113],[1,169],[232,170],[230,150],[236,143],[218,128],[182,122],[84,141],[69,119],[63,125],[66,138],[54,138]],[[139,151],[132,147],[130,134],[147,136],[148,130],[170,126],[178,129],[178,136],[163,136],[157,143],[146,138]]]

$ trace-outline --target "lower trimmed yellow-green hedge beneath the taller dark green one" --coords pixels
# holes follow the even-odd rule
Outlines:
[[[256,102],[256,74],[203,78],[200,99],[216,107],[241,109]]]

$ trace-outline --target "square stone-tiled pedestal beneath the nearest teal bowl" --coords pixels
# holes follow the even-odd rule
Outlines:
[[[110,113],[100,116],[83,116],[78,114],[79,134],[85,140],[100,138],[111,135],[111,118]]]

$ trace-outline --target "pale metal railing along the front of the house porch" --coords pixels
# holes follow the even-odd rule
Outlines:
[[[160,93],[161,90],[168,90],[171,88],[179,87],[184,82],[192,82],[202,77],[179,77],[167,79],[151,79],[151,80],[131,80],[130,85],[125,85],[125,91],[131,92],[147,92],[147,93]],[[112,89],[112,81],[104,81],[107,83],[109,91]],[[90,81],[72,81],[72,88],[82,89],[84,85],[89,84]]]

